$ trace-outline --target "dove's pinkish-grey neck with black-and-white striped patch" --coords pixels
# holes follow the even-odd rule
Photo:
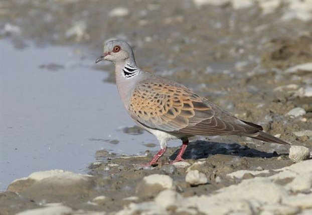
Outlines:
[[[134,89],[137,76],[139,75],[140,70],[136,66],[135,61],[125,60],[122,62],[115,63],[115,76],[116,76],[116,85],[126,108],[130,99],[130,95]]]

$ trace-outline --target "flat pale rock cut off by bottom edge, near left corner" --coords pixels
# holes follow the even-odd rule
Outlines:
[[[50,203],[46,204],[43,208],[29,209],[23,212],[17,213],[17,215],[65,215],[73,212],[72,208],[63,205],[62,203]]]

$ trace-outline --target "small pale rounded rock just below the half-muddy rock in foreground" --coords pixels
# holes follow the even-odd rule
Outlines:
[[[175,205],[177,201],[181,200],[182,196],[178,192],[171,189],[166,189],[160,192],[154,199],[157,204],[165,208],[171,205]]]

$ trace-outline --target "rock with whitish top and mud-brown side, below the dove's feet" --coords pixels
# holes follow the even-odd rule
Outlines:
[[[174,189],[173,179],[168,175],[151,174],[143,177],[136,186],[140,196],[154,196],[164,189]]]

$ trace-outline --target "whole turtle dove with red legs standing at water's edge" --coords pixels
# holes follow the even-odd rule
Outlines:
[[[146,166],[157,164],[172,139],[181,139],[182,146],[170,163],[184,161],[189,138],[196,135],[238,135],[290,144],[264,132],[260,125],[238,119],[184,85],[140,69],[131,46],[123,40],[106,42],[95,63],[103,60],[115,64],[116,86],[130,117],[160,143],[161,149]]]

